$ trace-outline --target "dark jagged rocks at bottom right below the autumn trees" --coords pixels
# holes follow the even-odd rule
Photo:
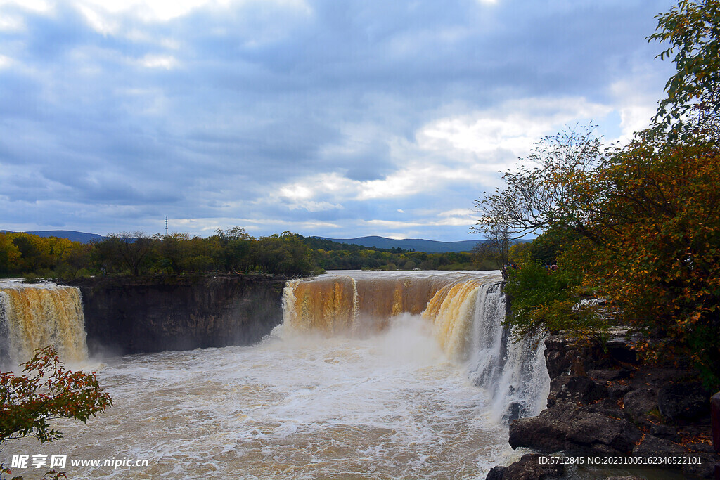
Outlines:
[[[710,394],[687,371],[639,365],[629,341],[620,335],[606,348],[563,335],[545,344],[551,377],[548,408],[537,417],[510,423],[513,448],[554,456],[693,456],[701,459],[699,465],[661,468],[712,478],[720,456],[709,443]],[[532,468],[540,464],[523,457],[493,468],[487,478],[511,479],[512,472]],[[536,473],[543,478],[580,475],[577,466]]]

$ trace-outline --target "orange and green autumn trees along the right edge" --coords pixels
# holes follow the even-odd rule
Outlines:
[[[650,39],[670,42],[662,57],[675,55],[677,71],[655,122],[624,147],[575,132],[544,139],[528,158],[534,166],[505,173],[508,186],[476,207],[480,225],[579,236],[559,257],[584,263],[583,283],[611,301],[618,320],[652,335],[639,345],[645,358],[688,361],[716,388],[720,2],[680,1],[658,19]],[[525,320],[554,302],[531,302]]]

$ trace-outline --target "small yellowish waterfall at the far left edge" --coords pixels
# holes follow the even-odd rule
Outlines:
[[[15,367],[36,348],[55,345],[63,361],[87,356],[80,290],[54,284],[0,282],[0,362]]]

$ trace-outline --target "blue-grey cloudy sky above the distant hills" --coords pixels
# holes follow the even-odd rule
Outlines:
[[[644,127],[670,0],[0,0],[0,230],[471,240],[534,141]]]

